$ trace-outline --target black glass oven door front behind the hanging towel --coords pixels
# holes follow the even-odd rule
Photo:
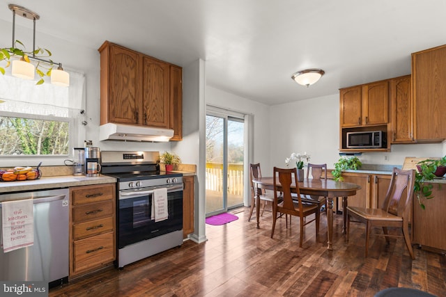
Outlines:
[[[152,195],[118,200],[118,248],[156,236],[183,230],[183,191],[167,194],[169,217],[151,219]]]

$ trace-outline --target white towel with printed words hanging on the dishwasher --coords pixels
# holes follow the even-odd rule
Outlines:
[[[1,203],[3,252],[34,244],[33,200]]]

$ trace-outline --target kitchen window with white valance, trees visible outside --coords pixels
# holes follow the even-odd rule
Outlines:
[[[69,159],[85,139],[83,102],[84,74],[70,72],[69,88],[0,75],[1,166]]]

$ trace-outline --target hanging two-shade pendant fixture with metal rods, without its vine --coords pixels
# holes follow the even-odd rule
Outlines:
[[[12,48],[15,48],[15,15],[20,15],[25,17],[26,19],[33,20],[33,51],[32,55],[26,56],[28,59],[37,61],[38,63],[43,62],[49,64],[49,67],[53,67],[54,64],[58,64],[57,69],[51,69],[50,72],[47,73],[49,77],[51,77],[51,83],[56,86],[70,86],[70,74],[68,72],[63,71],[61,63],[55,63],[54,61],[45,60],[43,58],[39,58],[36,56],[36,20],[40,19],[40,16],[33,11],[26,9],[22,6],[18,6],[15,4],[8,4],[8,8],[13,12],[13,45]],[[21,42],[20,42],[21,43]],[[47,51],[49,53],[49,51]],[[14,53],[13,53],[14,54]],[[49,56],[51,53],[49,53]],[[36,73],[36,66],[34,66],[29,61],[26,61],[26,58],[22,57],[20,60],[15,60],[12,63],[12,71],[14,77],[20,77],[22,79],[34,79]],[[40,77],[43,77],[45,74],[40,74]],[[43,81],[42,81],[43,82]]]

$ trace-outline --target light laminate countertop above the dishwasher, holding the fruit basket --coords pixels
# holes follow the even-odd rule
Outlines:
[[[106,175],[100,175],[98,177],[85,177],[82,175],[40,177],[40,179],[20,182],[0,182],[0,193],[35,191],[47,188],[68,188],[70,186],[87,186],[90,184],[109,184],[114,182],[116,182],[116,178]]]

